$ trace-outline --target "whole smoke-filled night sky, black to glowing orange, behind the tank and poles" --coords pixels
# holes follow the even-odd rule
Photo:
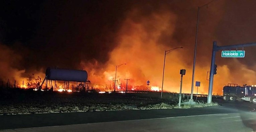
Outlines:
[[[44,77],[46,67],[84,69],[94,87],[117,84],[129,89],[161,88],[164,51],[184,47],[166,55],[164,90],[178,92],[180,69],[186,69],[183,92],[191,91],[197,7],[209,1],[80,1],[4,3],[2,10],[0,79],[24,80],[28,74]],[[199,93],[208,92],[212,42],[233,45],[256,42],[256,2],[216,0],[200,8],[195,81]],[[27,7],[23,9],[21,7]],[[239,8],[238,8],[239,7]],[[20,12],[18,15],[16,12]],[[20,20],[20,21],[18,21]],[[23,48],[23,49],[22,49]],[[22,50],[21,50],[22,49]],[[236,50],[236,49],[235,49]],[[240,49],[242,50],[242,49]],[[227,83],[253,84],[254,47],[246,57],[221,58],[217,53],[214,93]]]

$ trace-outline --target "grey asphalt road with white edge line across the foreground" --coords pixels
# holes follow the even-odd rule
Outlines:
[[[6,132],[256,131],[255,104],[217,101],[221,106],[192,109],[3,115],[0,116],[0,129]]]

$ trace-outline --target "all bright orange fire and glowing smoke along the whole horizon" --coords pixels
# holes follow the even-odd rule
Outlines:
[[[218,7],[218,10],[224,4],[222,3],[219,6],[221,7]],[[132,8],[125,14],[124,19],[120,22],[119,29],[113,35],[115,40],[113,43],[116,43],[116,45],[104,55],[109,57],[108,60],[102,63],[97,59],[89,62],[81,59],[79,66],[74,66],[74,69],[86,70],[92,87],[99,88],[101,91],[112,91],[114,88],[115,68],[125,63],[126,65],[121,65],[116,70],[116,88],[118,90],[125,90],[125,79],[130,79],[127,81],[128,90],[148,90],[149,88],[152,91],[160,91],[162,87],[165,50],[183,46],[183,49],[176,49],[166,55],[163,90],[179,92],[179,71],[180,69],[186,69],[186,74],[183,77],[182,92],[190,93],[194,36],[188,36],[188,34],[190,35],[191,32],[194,35],[195,27],[188,28],[186,23],[183,23],[185,19],[182,17],[184,16],[178,16],[176,12],[171,11],[167,7],[161,5],[157,10],[147,13],[136,6]],[[217,9],[208,9],[207,13],[212,14]],[[196,10],[193,9],[193,11]],[[202,20],[202,25],[199,27],[194,80],[201,81],[201,86],[198,88],[198,93],[201,94],[208,93],[209,82],[206,80],[208,78],[206,75],[210,67],[212,41],[218,39],[218,36],[214,37],[213,33],[206,33],[202,28],[209,26],[207,32],[215,32],[214,28],[221,21],[222,17],[220,16],[223,16],[223,14],[223,12],[217,12],[214,15],[219,16],[217,17],[218,19],[212,21],[211,19],[216,16],[211,16],[210,20]],[[193,21],[192,25],[195,26],[196,12],[192,15],[193,17],[188,20]],[[205,17],[202,15],[202,18]],[[205,24],[207,22],[209,23]],[[189,33],[183,36],[177,31],[181,28],[184,30],[184,34],[185,32]],[[176,39],[177,37],[179,39]],[[233,41],[230,43],[234,44]],[[0,53],[0,79],[3,80],[4,84],[9,79],[11,83],[16,81],[20,87],[27,88],[27,75],[32,73],[44,79],[46,67],[39,70],[20,68],[18,65],[22,61],[22,56],[5,45],[0,45]],[[217,56],[220,55],[217,54]],[[244,83],[254,85],[256,83],[252,79],[256,76],[255,71],[248,68],[240,60],[230,59],[227,61],[226,59],[221,60],[220,57],[217,57],[217,60],[219,61],[217,61],[217,74],[214,77],[214,94],[222,94],[222,88],[227,83],[238,83],[240,85]],[[59,67],[61,68],[61,66]],[[65,68],[65,66],[63,67]],[[147,85],[148,80],[150,81],[149,85]],[[63,82],[57,83],[60,86],[58,90],[62,91]],[[194,92],[196,92],[195,86]]]

